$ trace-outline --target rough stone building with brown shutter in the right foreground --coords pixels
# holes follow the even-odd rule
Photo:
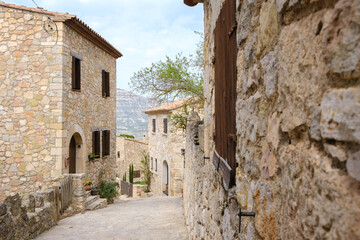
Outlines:
[[[360,239],[360,2],[185,0],[199,2],[205,110],[187,128],[190,238]]]

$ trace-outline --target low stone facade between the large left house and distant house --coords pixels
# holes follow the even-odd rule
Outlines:
[[[134,165],[134,171],[141,169],[140,160],[142,153],[148,151],[148,144],[139,140],[117,137],[116,138],[116,174],[123,179],[126,173],[126,181],[129,181],[129,165]],[[141,177],[141,172],[140,172]],[[134,178],[134,182],[140,179]]]

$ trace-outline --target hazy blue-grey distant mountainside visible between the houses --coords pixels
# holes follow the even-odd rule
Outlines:
[[[149,98],[122,89],[116,90],[116,133],[134,135],[137,139],[147,134],[147,115],[144,110],[156,106]]]

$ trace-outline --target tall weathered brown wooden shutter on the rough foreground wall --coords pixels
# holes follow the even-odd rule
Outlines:
[[[215,150],[214,164],[225,185],[236,173],[236,6],[226,0],[215,27]]]

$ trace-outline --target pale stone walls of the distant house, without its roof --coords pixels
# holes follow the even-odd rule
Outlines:
[[[171,113],[176,111],[179,110],[173,110]],[[153,173],[150,188],[158,196],[163,195],[163,191],[165,191],[165,164],[168,166],[169,196],[182,196],[183,194],[184,157],[181,155],[181,149],[185,149],[185,132],[181,129],[176,129],[171,124],[169,119],[169,114],[171,113],[148,114],[150,170]],[[164,133],[164,118],[168,119],[167,133]],[[156,132],[152,132],[152,119],[156,119]],[[152,169],[151,158],[153,158]]]

